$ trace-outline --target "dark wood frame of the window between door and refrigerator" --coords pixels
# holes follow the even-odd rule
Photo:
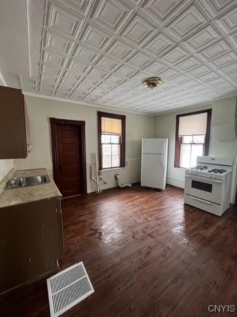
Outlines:
[[[126,133],[126,116],[116,113],[102,112],[97,111],[98,115],[98,158],[99,158],[99,170],[103,169],[115,169],[125,167],[125,133]],[[102,155],[102,142],[101,142],[101,119],[103,118],[111,118],[111,119],[119,119],[122,124],[122,134],[121,134],[121,143],[120,143],[120,164],[116,167],[102,167],[103,155]]]

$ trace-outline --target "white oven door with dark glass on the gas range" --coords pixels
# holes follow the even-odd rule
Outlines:
[[[185,174],[185,194],[221,205],[223,180]]]

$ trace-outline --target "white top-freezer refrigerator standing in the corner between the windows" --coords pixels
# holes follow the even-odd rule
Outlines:
[[[165,189],[168,139],[142,139],[141,186]]]

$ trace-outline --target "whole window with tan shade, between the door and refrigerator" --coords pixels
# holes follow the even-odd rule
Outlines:
[[[98,111],[99,169],[125,167],[125,115]]]

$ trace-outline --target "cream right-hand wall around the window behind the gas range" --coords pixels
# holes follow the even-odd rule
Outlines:
[[[209,109],[215,106],[215,103],[227,104],[230,98],[222,99],[214,102],[213,105],[206,105],[200,107],[187,108],[185,110],[177,110],[165,114],[155,116],[154,136],[159,138],[169,139],[168,149],[168,167],[167,167],[167,183],[184,188],[185,169],[174,167],[174,154],[175,154],[175,126],[176,115],[198,111],[203,109]],[[220,118],[221,119],[221,118]],[[209,144],[209,156],[226,157],[234,159],[234,168],[237,158],[237,143],[236,142],[216,142],[213,137],[212,131],[210,132],[210,144]],[[235,171],[234,171],[235,175]],[[234,202],[234,196],[236,192],[235,179],[233,177],[232,185],[232,202]]]

